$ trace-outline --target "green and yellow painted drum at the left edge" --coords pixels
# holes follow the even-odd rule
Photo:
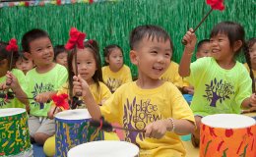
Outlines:
[[[25,109],[0,110],[0,156],[32,156],[32,144]]]

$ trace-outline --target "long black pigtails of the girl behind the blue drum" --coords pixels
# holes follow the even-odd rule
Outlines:
[[[97,84],[98,90],[99,88],[99,81],[102,81],[102,72],[101,72],[101,61],[99,56],[99,48],[96,40],[87,40],[84,42],[85,48],[89,49],[90,52],[94,54],[94,57],[96,59],[96,73],[93,76],[94,81]],[[75,73],[73,72],[72,68],[72,61],[74,58],[74,54],[77,53],[76,49],[72,49],[68,53],[68,74],[69,74],[69,97],[73,97],[73,77],[75,76]]]

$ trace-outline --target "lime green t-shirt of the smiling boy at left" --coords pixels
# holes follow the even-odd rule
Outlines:
[[[38,74],[35,68],[26,75],[27,89],[29,98],[34,98],[38,93],[47,91],[57,91],[67,81],[67,69],[59,64],[44,74]],[[31,115],[47,116],[51,103],[38,103],[30,99]]]

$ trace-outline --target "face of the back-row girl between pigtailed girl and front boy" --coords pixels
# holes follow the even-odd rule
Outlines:
[[[114,48],[110,52],[106,62],[109,64],[109,67],[112,71],[117,72],[123,66],[123,54],[119,48]]]

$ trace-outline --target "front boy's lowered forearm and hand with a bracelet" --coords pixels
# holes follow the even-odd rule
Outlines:
[[[173,120],[173,119],[172,119]],[[177,134],[188,134],[194,131],[195,126],[188,120],[160,120],[148,125],[145,130],[147,137],[161,138],[166,131],[173,131]]]

